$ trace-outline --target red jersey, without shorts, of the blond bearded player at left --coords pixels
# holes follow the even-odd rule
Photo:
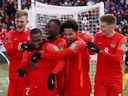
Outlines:
[[[18,50],[19,43],[28,41],[27,32],[11,31],[8,33],[8,41],[5,44],[10,59],[10,70],[17,68],[22,58],[22,52]],[[18,64],[17,64],[18,63]],[[12,67],[11,67],[12,66]]]

